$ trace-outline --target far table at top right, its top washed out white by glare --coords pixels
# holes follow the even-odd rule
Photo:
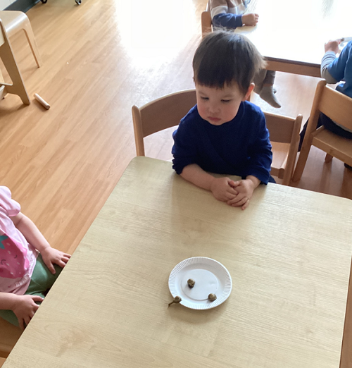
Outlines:
[[[351,0],[252,0],[256,27],[239,27],[268,60],[269,70],[320,77],[324,44],[352,36]]]

